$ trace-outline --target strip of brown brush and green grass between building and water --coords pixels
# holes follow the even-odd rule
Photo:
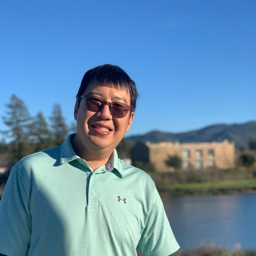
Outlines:
[[[256,191],[255,169],[149,172],[159,192],[172,196]]]

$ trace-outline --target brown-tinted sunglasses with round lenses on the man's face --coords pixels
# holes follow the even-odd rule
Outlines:
[[[126,116],[129,110],[131,110],[129,105],[126,105],[122,102],[108,102],[104,101],[100,97],[88,95],[83,95],[79,99],[83,97],[85,98],[86,108],[93,112],[98,112],[103,109],[105,105],[108,105],[112,116],[122,118]]]

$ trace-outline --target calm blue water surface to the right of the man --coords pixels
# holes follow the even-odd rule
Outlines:
[[[256,194],[162,197],[182,249],[214,243],[256,249]]]

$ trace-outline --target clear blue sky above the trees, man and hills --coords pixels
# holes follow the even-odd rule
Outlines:
[[[140,95],[127,135],[255,120],[255,13],[253,0],[1,1],[0,114],[14,93],[70,123],[84,73],[110,63]]]

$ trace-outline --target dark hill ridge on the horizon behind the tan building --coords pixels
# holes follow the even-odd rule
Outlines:
[[[216,124],[205,128],[183,133],[168,133],[152,131],[144,135],[126,137],[130,142],[150,141],[152,143],[161,141],[183,142],[221,142],[225,139],[235,141],[236,148],[247,148],[249,139],[256,138],[256,121],[244,124]]]

